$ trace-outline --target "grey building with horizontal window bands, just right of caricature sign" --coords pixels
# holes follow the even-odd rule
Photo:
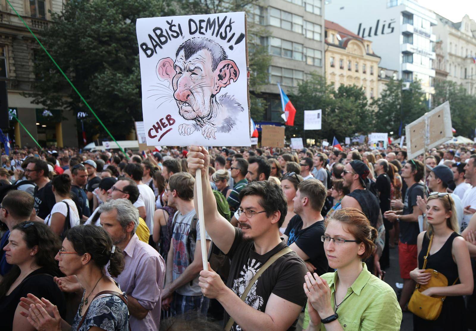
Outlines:
[[[311,72],[324,75],[324,1],[263,0],[259,6],[252,6],[247,15],[248,22],[251,20],[268,32],[259,42],[272,56],[269,84],[261,88],[259,95],[267,101],[268,109],[264,118],[256,121],[282,123],[277,84],[290,93]]]

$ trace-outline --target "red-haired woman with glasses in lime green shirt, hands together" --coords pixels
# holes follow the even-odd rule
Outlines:
[[[304,330],[400,330],[402,311],[395,292],[362,262],[374,250],[377,230],[355,208],[339,209],[326,222],[324,251],[329,267],[337,271],[304,277]]]

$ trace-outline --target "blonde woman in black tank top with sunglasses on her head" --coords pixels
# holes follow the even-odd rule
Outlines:
[[[429,296],[446,296],[446,299],[436,321],[426,321],[414,315],[415,330],[467,330],[463,295],[473,293],[473,272],[466,242],[457,234],[459,227],[454,206],[449,194],[438,192],[430,193],[426,203],[428,228],[418,234],[418,267],[410,272],[410,277],[422,285],[430,280],[431,273],[425,273],[421,268],[433,236],[426,269],[435,269],[445,275],[448,286],[430,287],[422,292]],[[459,280],[452,285],[458,277]]]

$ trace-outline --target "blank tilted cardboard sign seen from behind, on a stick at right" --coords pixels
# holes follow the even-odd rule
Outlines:
[[[453,131],[449,101],[408,124],[405,135],[408,159],[419,156],[425,148],[433,148],[451,139]]]

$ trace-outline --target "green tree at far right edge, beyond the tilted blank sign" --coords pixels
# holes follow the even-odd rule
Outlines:
[[[476,96],[455,82],[444,80],[436,82],[434,105],[449,101],[451,124],[457,135],[474,137],[476,127]]]

